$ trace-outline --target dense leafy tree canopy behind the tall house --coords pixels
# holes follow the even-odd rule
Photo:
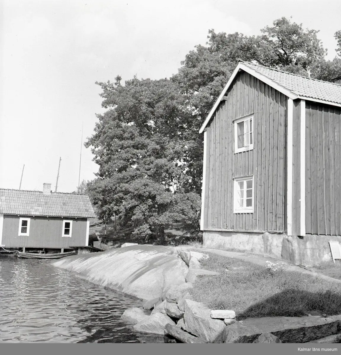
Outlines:
[[[97,82],[102,107],[92,147],[99,165],[88,193],[99,218],[118,215],[144,240],[162,236],[164,226],[185,220],[199,229],[203,138],[199,128],[238,60],[330,81],[341,73],[341,30],[337,56],[327,51],[318,31],[282,17],[261,35],[209,31],[169,79],[134,77],[121,84]]]

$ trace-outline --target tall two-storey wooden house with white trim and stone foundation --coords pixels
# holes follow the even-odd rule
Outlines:
[[[297,264],[341,241],[341,85],[238,65],[204,132],[204,246]]]

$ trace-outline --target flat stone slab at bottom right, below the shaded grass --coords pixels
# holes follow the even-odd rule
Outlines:
[[[333,318],[262,317],[248,318],[224,329],[224,343],[252,343],[262,333],[271,333],[282,343],[306,343],[337,333],[341,316]]]

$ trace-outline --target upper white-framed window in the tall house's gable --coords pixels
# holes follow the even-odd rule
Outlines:
[[[253,149],[253,115],[234,121],[234,153]]]

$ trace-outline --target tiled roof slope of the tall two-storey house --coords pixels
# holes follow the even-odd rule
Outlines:
[[[270,69],[249,62],[240,62],[299,96],[341,104],[341,85],[339,84]]]

